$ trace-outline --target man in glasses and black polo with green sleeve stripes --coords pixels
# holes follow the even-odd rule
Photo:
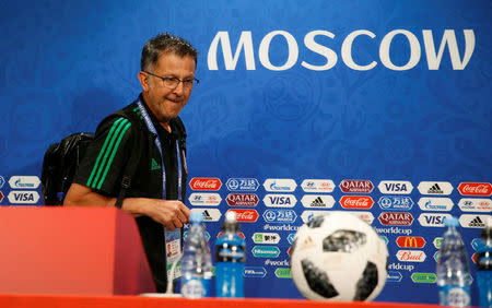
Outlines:
[[[179,230],[190,214],[178,200],[184,201],[187,175],[185,149],[179,146],[186,133],[178,114],[198,83],[197,55],[188,42],[169,34],[144,45],[138,75],[142,93],[99,123],[63,203],[115,206],[128,165],[137,164],[117,205],[137,220],[157,292],[166,288],[166,256],[177,258]]]

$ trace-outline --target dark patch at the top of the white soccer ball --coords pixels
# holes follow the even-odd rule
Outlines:
[[[365,242],[365,234],[340,229],[323,239],[323,251],[354,252]]]

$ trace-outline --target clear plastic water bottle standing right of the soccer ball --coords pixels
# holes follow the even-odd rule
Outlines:
[[[471,274],[467,251],[461,236],[456,227],[456,217],[446,218],[436,264],[437,286],[440,287],[440,304],[452,307],[470,306]]]

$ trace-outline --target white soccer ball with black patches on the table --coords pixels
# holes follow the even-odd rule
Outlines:
[[[370,301],[385,285],[388,249],[363,220],[332,212],[301,226],[290,264],[295,286],[309,299]]]

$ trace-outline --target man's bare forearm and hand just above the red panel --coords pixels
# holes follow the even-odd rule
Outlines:
[[[116,198],[94,192],[89,187],[72,183],[65,199],[65,206],[115,206]],[[174,230],[188,223],[191,211],[177,200],[160,200],[150,198],[126,198],[121,210],[133,217],[149,216],[163,224],[166,229]]]

